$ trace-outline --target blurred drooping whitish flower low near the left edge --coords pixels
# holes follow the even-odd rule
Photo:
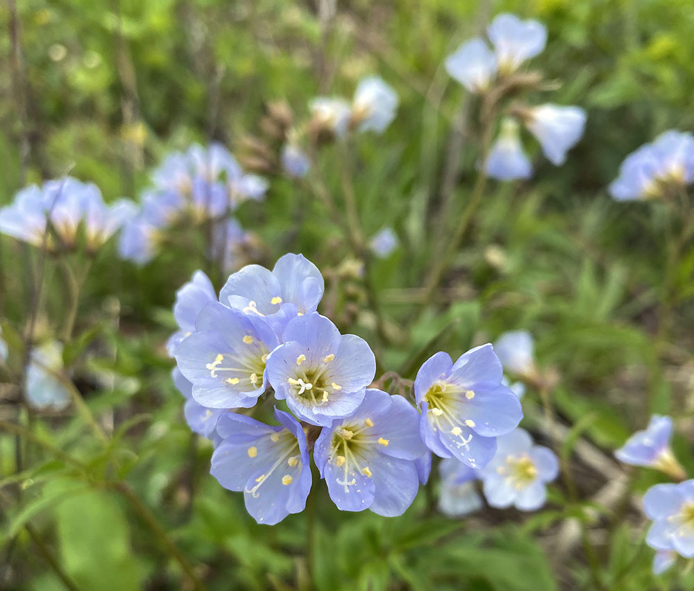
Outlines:
[[[37,410],[62,411],[70,404],[62,343],[46,341],[31,350],[26,368],[26,400]]]

